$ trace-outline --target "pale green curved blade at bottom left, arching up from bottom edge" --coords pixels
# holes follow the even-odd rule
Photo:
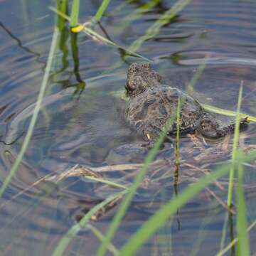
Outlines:
[[[65,252],[66,248],[70,244],[71,240],[75,237],[75,235],[78,234],[78,232],[85,227],[85,225],[89,222],[90,218],[97,213],[100,208],[106,206],[108,203],[113,201],[116,198],[119,198],[121,196],[124,196],[124,194],[127,193],[127,191],[122,191],[119,193],[115,193],[112,196],[109,196],[105,201],[102,201],[101,203],[97,204],[97,206],[93,207],[88,213],[85,214],[85,216],[82,217],[79,223],[73,225],[70,230],[68,230],[68,233],[65,234],[65,236],[60,240],[57,247],[55,248],[53,252],[53,256],[61,256],[63,255],[63,252]]]

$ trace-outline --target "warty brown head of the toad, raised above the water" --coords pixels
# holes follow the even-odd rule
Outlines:
[[[158,86],[160,81],[159,73],[152,70],[149,63],[132,63],[127,73],[125,89],[127,90],[127,95],[134,96],[144,92],[149,87]]]

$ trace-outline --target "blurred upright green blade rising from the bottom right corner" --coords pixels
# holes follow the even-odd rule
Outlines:
[[[249,238],[247,228],[247,210],[245,204],[245,193],[243,189],[243,168],[238,159],[238,186],[236,191],[237,204],[237,234],[238,234],[238,255],[250,256]]]

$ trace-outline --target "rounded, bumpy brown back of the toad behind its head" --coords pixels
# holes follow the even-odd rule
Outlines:
[[[140,124],[161,131],[167,119],[176,114],[178,98],[183,99],[181,108],[181,131],[191,129],[192,124],[197,124],[201,115],[201,107],[190,96],[174,87],[159,86],[145,90],[132,97],[127,103],[125,118],[133,127]],[[176,122],[169,128],[169,133],[176,132]]]

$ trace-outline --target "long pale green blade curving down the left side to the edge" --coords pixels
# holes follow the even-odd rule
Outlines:
[[[14,165],[11,167],[11,171],[9,172],[9,175],[6,177],[3,185],[0,188],[0,196],[2,196],[6,187],[11,182],[11,178],[16,173],[16,171],[18,169],[18,165],[21,164],[23,156],[24,156],[24,154],[26,152],[26,149],[28,148],[28,144],[31,140],[31,136],[33,134],[33,129],[34,129],[35,124],[36,124],[36,119],[38,117],[38,113],[40,112],[41,104],[42,104],[42,101],[43,101],[43,95],[46,92],[46,86],[47,86],[47,83],[48,83],[48,78],[50,76],[50,67],[51,67],[52,62],[53,62],[53,55],[54,55],[54,52],[55,52],[55,48],[57,46],[58,36],[59,36],[58,28],[55,28],[54,32],[53,32],[53,39],[52,39],[51,46],[50,46],[50,53],[48,55],[48,60],[47,60],[47,64],[46,64],[46,70],[45,70],[45,73],[43,75],[43,82],[42,82],[41,87],[40,87],[38,99],[36,101],[36,106],[35,106],[35,110],[33,111],[33,116],[31,118],[31,122],[29,123],[29,126],[28,126],[28,132],[26,133],[26,137],[25,137],[25,139],[23,141],[23,144],[21,146],[21,151],[19,151],[18,156],[17,156],[16,160],[14,161]]]

